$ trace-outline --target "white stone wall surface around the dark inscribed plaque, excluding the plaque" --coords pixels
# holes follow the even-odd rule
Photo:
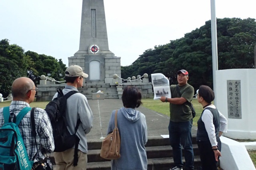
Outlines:
[[[228,119],[227,80],[241,81],[242,119]],[[256,139],[256,69],[227,69],[216,71],[216,106],[228,119],[224,136],[234,139]]]

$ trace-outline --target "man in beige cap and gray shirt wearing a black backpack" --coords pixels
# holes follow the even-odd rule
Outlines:
[[[79,65],[71,65],[65,71],[65,80],[67,85],[63,89],[64,95],[72,90],[78,91],[77,88],[83,86],[84,78],[87,78],[88,74],[84,73]],[[56,98],[58,93],[53,97]],[[57,170],[86,170],[87,166],[87,140],[86,134],[88,134],[92,128],[93,115],[88,105],[88,101],[81,93],[75,93],[67,99],[66,103],[66,119],[68,123],[68,130],[70,134],[75,133],[75,127],[78,119],[81,123],[78,126],[77,136],[80,138],[78,145],[78,165],[73,165],[74,160],[74,148],[70,148],[63,152],[54,152],[54,158],[56,162]]]

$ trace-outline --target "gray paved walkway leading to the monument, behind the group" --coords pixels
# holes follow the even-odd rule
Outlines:
[[[88,100],[94,116],[93,128],[87,139],[106,137],[108,122],[113,110],[123,107],[121,99]],[[146,116],[148,136],[168,135],[169,117],[140,106],[138,108]],[[192,134],[196,134],[197,127],[192,127]]]

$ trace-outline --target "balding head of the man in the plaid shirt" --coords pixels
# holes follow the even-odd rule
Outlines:
[[[30,89],[34,89],[34,82],[28,77],[20,77],[12,83],[12,97],[14,99],[27,99],[27,93]]]

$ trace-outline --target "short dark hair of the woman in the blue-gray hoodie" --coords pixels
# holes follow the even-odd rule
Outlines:
[[[134,109],[135,107],[139,107],[142,104],[140,89],[135,86],[125,87],[122,95],[122,102],[126,108]]]

